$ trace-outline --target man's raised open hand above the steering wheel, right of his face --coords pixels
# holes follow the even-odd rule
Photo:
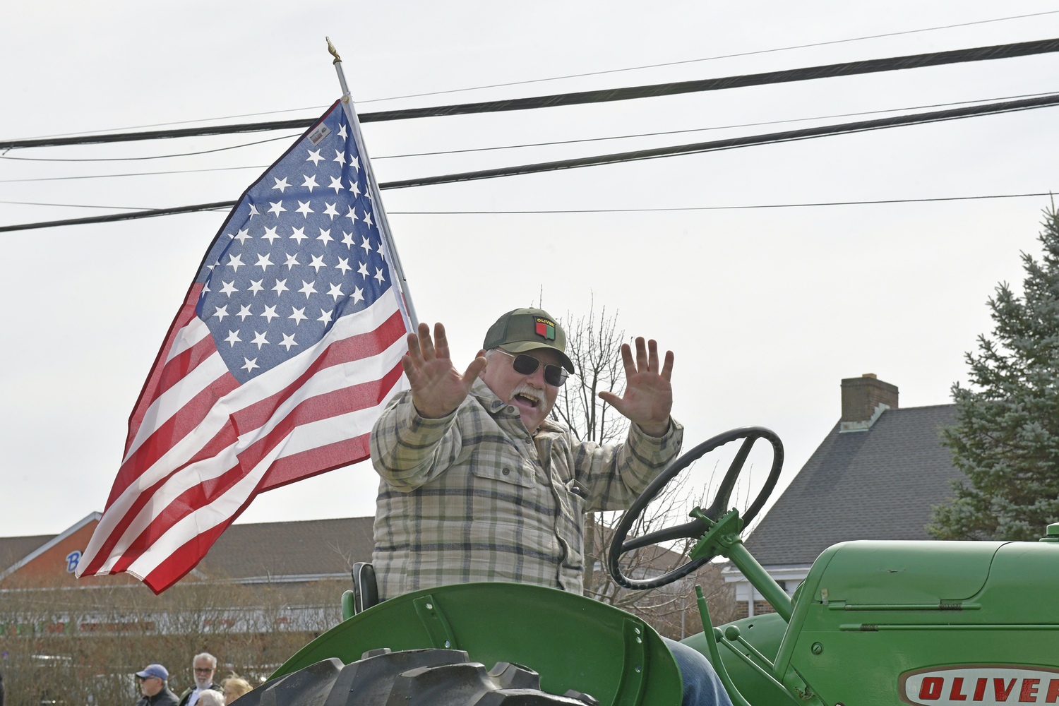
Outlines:
[[[622,362],[625,364],[625,393],[622,397],[602,392],[603,401],[638,424],[649,436],[665,436],[669,431],[669,411],[672,409],[672,351],[665,352],[665,364],[659,369],[659,346],[653,340],[644,346],[644,339],[636,339],[636,360],[628,343],[622,344]]]

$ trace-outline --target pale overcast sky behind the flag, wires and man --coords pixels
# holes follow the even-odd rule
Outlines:
[[[8,3],[0,139],[219,119],[310,117],[635,86],[1059,36],[1046,2]],[[930,32],[834,42],[1015,15]],[[754,53],[757,52],[757,53]],[[618,69],[694,61],[636,71]],[[612,73],[597,73],[612,72]],[[497,84],[594,73],[441,95]],[[498,114],[371,123],[380,181],[846,122],[864,111],[1059,90],[1059,56]],[[274,112],[289,111],[289,112]],[[264,114],[270,113],[270,114]],[[252,115],[249,115],[252,114]],[[245,117],[233,117],[247,115]],[[764,424],[786,481],[840,416],[841,378],[875,373],[901,406],[944,404],[990,330],[986,300],[1021,283],[1044,198],[790,209],[528,215],[424,211],[735,206],[1047,192],[1056,109],[383,194],[419,316],[459,366],[503,311],[597,307],[676,354],[685,447]],[[778,123],[797,119],[816,119]],[[769,123],[767,125],[749,125]],[[187,123],[199,125],[201,122]],[[383,159],[426,151],[648,138]],[[287,132],[13,150],[0,224],[236,200]],[[11,158],[23,158],[16,161]],[[24,161],[48,160],[127,161]],[[231,169],[231,167],[253,167]],[[172,175],[20,181],[148,171]],[[207,246],[200,213],[0,234],[0,536],[53,533],[102,510],[127,417]],[[1021,288],[1019,288],[1021,291]],[[369,464],[258,497],[240,522],[374,513]]]

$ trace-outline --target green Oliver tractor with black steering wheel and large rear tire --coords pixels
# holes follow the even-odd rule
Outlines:
[[[740,517],[725,509],[759,439],[771,443],[773,463]],[[707,509],[696,507],[683,526],[626,541],[638,514],[678,473],[739,440]],[[1059,703],[1059,602],[1048,598],[1059,591],[1059,524],[1040,542],[843,542],[820,555],[789,597],[740,540],[775,487],[783,457],[779,438],[764,428],[699,445],[625,514],[608,559],[618,583],[649,589],[723,556],[766,597],[775,613],[712,628],[698,592],[704,632],[684,642],[711,660],[734,704]],[[622,554],[681,538],[698,538],[688,563],[651,579],[623,575]],[[369,580],[346,592],[343,621],[239,706],[681,703],[680,671],[661,637],[613,607],[514,583],[439,586],[372,604],[372,589]]]

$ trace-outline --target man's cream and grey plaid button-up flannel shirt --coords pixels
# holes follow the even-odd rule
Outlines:
[[[481,380],[441,419],[399,395],[371,436],[379,598],[471,581],[581,593],[585,513],[628,508],[682,439],[671,419],[661,438],[631,424],[621,445],[578,441],[550,419],[531,437]]]

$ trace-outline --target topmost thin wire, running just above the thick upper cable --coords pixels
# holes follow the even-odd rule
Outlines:
[[[401,98],[417,98],[417,97],[424,97],[424,96],[428,96],[428,95],[444,95],[444,94],[447,94],[447,93],[461,93],[461,92],[464,92],[464,91],[478,91],[478,90],[487,89],[487,88],[503,88],[503,87],[506,87],[506,86],[523,86],[523,85],[526,85],[526,84],[540,84],[540,83],[550,82],[550,80],[562,80],[562,79],[566,79],[566,78],[581,78],[581,77],[585,77],[585,76],[602,76],[602,75],[605,75],[605,74],[624,73],[624,72],[628,72],[628,71],[640,71],[640,70],[643,70],[643,69],[658,69],[658,68],[662,68],[662,67],[681,66],[681,65],[684,65],[684,64],[697,64],[697,62],[701,62],[701,61],[715,61],[717,59],[728,59],[728,58],[735,58],[735,57],[740,57],[740,56],[754,56],[754,55],[757,55],[757,54],[771,54],[771,53],[774,53],[774,52],[786,52],[786,51],[790,51],[790,50],[794,50],[794,49],[809,49],[809,48],[812,48],[812,47],[826,47],[826,46],[829,46],[829,44],[842,44],[842,43],[847,43],[847,42],[850,42],[850,41],[863,41],[865,39],[880,39],[880,38],[883,38],[883,37],[896,37],[896,36],[905,35],[905,34],[917,34],[917,33],[920,33],[920,32],[933,32],[933,31],[936,31],[936,30],[951,30],[951,29],[954,29],[954,28],[971,26],[971,25],[974,25],[974,24],[988,24],[990,22],[1003,22],[1003,21],[1006,21],[1006,20],[1024,19],[1026,17],[1040,17],[1042,15],[1054,15],[1056,13],[1059,13],[1059,10],[1049,10],[1049,11],[1043,12],[1043,13],[1029,13],[1027,15],[1012,15],[1010,17],[994,17],[994,18],[988,19],[988,20],[975,20],[973,22],[959,22],[957,24],[941,24],[941,25],[938,25],[938,26],[929,26],[929,28],[922,28],[922,29],[919,29],[919,30],[903,30],[903,31],[900,31],[900,32],[887,32],[887,33],[884,33],[884,34],[872,34],[872,35],[866,35],[866,36],[863,36],[863,37],[850,37],[848,39],[831,39],[831,40],[828,40],[828,41],[816,41],[816,42],[812,42],[812,43],[809,43],[809,44],[792,44],[790,47],[776,47],[776,48],[773,48],[773,49],[760,49],[760,50],[755,50],[755,51],[752,51],[752,52],[739,52],[737,54],[721,54],[721,55],[718,55],[718,56],[706,56],[706,57],[702,57],[702,58],[698,58],[698,59],[683,59],[681,61],[666,61],[666,62],[663,62],[663,64],[648,64],[648,65],[639,66],[639,67],[627,67],[625,69],[607,69],[607,70],[604,70],[604,71],[589,71],[589,72],[586,72],[586,73],[568,74],[568,75],[564,75],[564,76],[552,76],[552,77],[549,77],[549,78],[530,78],[530,79],[526,79],[526,80],[515,80],[515,82],[508,82],[506,84],[489,84],[489,85],[485,85],[485,86],[470,86],[470,87],[467,87],[467,88],[453,88],[453,89],[448,89],[448,90],[445,90],[445,91],[428,91],[426,93],[409,93],[409,94],[406,94],[406,95],[391,95],[391,96],[388,96],[388,97],[384,97],[384,98],[369,98],[369,99],[365,99],[365,101],[357,101],[356,103],[358,105],[365,104],[365,103],[381,103],[383,101],[399,101]],[[240,114],[237,114],[237,115],[217,115],[216,117],[197,117],[195,120],[170,121],[168,123],[149,123],[149,124],[146,124],[146,125],[129,125],[127,127],[109,128],[109,129],[103,130],[103,132],[112,132],[112,131],[115,131],[115,130],[138,130],[138,129],[145,128],[145,127],[161,127],[161,126],[164,126],[164,125],[185,125],[187,123],[205,123],[205,122],[215,121],[215,120],[230,120],[232,117],[252,117],[254,115],[273,115],[275,113],[290,113],[290,112],[298,112],[298,111],[301,111],[301,110],[322,110],[322,109],[324,109],[327,106],[306,106],[304,108],[286,108],[284,110],[264,110],[264,111],[261,111],[261,112],[255,112],[255,113],[240,113]],[[36,138],[23,138],[23,139],[24,140],[38,140],[38,139],[42,139],[42,138],[65,138],[65,137],[68,137],[68,135],[79,135],[79,134],[85,134],[85,132],[84,131],[80,131],[80,132],[59,132],[59,133],[55,133],[55,134],[42,134],[42,135],[37,135]]]

